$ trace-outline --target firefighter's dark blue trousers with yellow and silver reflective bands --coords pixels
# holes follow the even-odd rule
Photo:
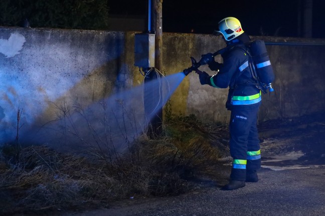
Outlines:
[[[246,172],[254,172],[261,167],[260,144],[257,131],[259,103],[235,105],[231,109],[230,154],[233,164],[230,178],[244,181]]]

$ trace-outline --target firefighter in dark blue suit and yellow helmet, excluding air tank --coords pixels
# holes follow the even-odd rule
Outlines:
[[[230,181],[224,190],[234,190],[245,186],[245,182],[257,182],[257,169],[261,166],[260,145],[257,132],[257,113],[261,101],[261,91],[253,83],[248,67],[250,41],[238,19],[227,17],[219,23],[219,31],[225,40],[226,51],[221,55],[223,64],[215,62],[212,54],[203,55],[209,68],[217,71],[210,76],[199,73],[200,83],[215,88],[228,88],[226,107],[231,110],[229,124],[230,154],[233,158]],[[250,85],[252,84],[252,85]]]

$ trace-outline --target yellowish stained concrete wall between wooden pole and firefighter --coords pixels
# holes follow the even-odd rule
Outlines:
[[[213,53],[225,46],[222,40],[214,36],[195,34],[166,34],[163,43],[166,74],[180,72],[190,67],[191,56],[199,61],[202,54]],[[216,60],[222,61],[220,56],[216,57]],[[213,75],[207,66],[200,69]],[[204,121],[223,121],[229,115],[225,109],[227,93],[227,89],[202,86],[198,75],[192,72],[172,96],[172,110],[176,114],[196,114]]]

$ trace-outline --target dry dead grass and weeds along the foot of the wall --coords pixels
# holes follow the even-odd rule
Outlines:
[[[173,118],[164,124],[163,135],[154,140],[141,136],[111,163],[100,152],[85,157],[32,145],[17,153],[15,145],[3,145],[0,214],[109,205],[118,199],[189,191],[191,177],[225,156],[226,128],[204,125],[195,116]]]

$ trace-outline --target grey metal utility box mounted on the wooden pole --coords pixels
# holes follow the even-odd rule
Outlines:
[[[139,68],[154,67],[154,34],[134,35],[134,66]]]

